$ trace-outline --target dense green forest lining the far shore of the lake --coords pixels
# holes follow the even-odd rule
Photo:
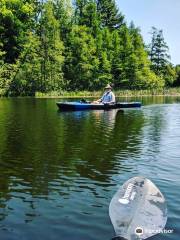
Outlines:
[[[0,96],[180,86],[163,30],[151,42],[114,0],[0,0]]]

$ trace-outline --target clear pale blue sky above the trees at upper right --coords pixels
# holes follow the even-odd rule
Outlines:
[[[116,0],[129,24],[140,27],[146,44],[150,43],[152,26],[163,30],[171,62],[180,64],[180,0]]]

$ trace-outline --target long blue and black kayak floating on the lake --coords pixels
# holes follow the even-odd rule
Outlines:
[[[82,111],[82,110],[110,110],[118,108],[139,108],[140,102],[117,102],[115,104],[95,104],[84,102],[57,102],[59,110],[61,111]]]

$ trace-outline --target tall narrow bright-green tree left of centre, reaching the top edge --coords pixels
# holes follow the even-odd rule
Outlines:
[[[44,3],[40,19],[42,91],[61,88],[63,83],[63,50],[59,21],[54,15],[52,1]]]

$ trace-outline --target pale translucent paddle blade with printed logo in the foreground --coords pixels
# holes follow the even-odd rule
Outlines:
[[[113,240],[147,239],[165,227],[166,201],[149,179],[134,177],[112,198],[109,215],[116,233]]]

